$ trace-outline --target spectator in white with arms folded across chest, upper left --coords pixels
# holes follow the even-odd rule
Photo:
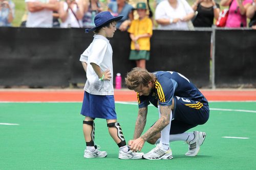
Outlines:
[[[53,26],[53,11],[59,9],[58,0],[25,0],[28,9],[26,27],[45,27]]]

